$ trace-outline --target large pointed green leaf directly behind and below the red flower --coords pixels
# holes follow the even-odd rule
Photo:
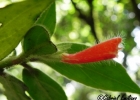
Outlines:
[[[58,47],[64,47],[64,45],[70,45],[70,43],[60,44]],[[85,46],[71,44],[67,51],[72,51],[71,53],[73,53],[75,50],[77,52],[77,48],[83,49]],[[113,60],[89,64],[44,62],[62,75],[87,86],[103,90],[140,94],[140,88],[132,81],[123,66]]]

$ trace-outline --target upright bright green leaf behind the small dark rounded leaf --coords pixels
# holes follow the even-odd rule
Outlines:
[[[36,24],[41,24],[46,28],[50,36],[53,34],[56,24],[55,3],[50,5],[50,7],[41,14]]]

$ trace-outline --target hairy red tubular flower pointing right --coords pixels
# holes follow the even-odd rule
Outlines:
[[[82,64],[115,58],[121,41],[121,37],[115,37],[74,54],[63,54],[62,62]]]

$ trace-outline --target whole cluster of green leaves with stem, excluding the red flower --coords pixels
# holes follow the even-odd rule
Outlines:
[[[0,9],[0,83],[8,100],[67,100],[62,86],[31,62],[42,62],[92,88],[140,94],[140,88],[124,67],[113,60],[75,65],[61,62],[62,53],[75,53],[87,46],[51,41],[56,25],[55,10],[53,0],[26,0]],[[10,55],[20,42],[22,53]],[[23,68],[20,79],[7,69],[17,64]]]

